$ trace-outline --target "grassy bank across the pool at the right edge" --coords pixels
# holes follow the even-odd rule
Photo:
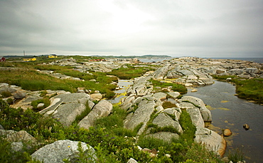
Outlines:
[[[263,79],[241,79],[237,76],[229,75],[213,75],[213,78],[218,80],[226,80],[232,78],[232,82],[236,84],[236,93],[239,98],[255,100],[259,103],[263,102]]]

